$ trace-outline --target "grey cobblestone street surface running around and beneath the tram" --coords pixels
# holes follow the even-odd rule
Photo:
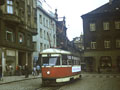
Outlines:
[[[42,87],[41,78],[0,85],[0,90],[120,90],[119,74],[83,74],[82,79],[57,87]]]

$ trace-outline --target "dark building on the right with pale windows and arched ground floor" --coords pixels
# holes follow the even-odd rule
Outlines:
[[[87,71],[120,72],[120,0],[82,16]]]

